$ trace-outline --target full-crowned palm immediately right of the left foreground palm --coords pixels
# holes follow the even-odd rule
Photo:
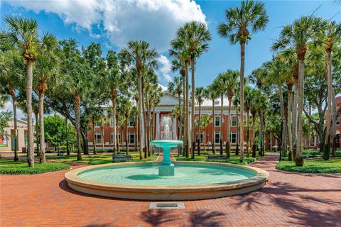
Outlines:
[[[39,124],[40,124],[40,149],[39,149],[39,162],[45,163],[45,131],[44,131],[44,98],[48,90],[48,86],[58,83],[58,63],[59,59],[55,55],[55,49],[58,46],[57,39],[53,36],[51,38],[51,48],[53,50],[44,50],[37,59],[36,73],[33,78],[36,81],[36,90],[38,91],[38,111],[39,111]],[[33,82],[34,82],[33,80]]]

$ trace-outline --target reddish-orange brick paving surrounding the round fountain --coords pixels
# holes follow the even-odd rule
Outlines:
[[[66,171],[1,176],[0,226],[341,226],[341,176],[281,172],[278,155],[254,163],[269,183],[250,194],[185,201],[149,210],[149,201],[90,196],[65,184]]]

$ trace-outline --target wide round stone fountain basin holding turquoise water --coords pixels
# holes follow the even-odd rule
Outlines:
[[[158,176],[158,162],[124,162],[82,167],[65,174],[76,191],[141,200],[195,200],[261,189],[269,173],[220,162],[174,162],[173,177]]]

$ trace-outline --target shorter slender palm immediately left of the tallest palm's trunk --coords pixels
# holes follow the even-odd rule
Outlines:
[[[234,96],[234,89],[237,87],[238,84],[238,76],[239,72],[237,70],[227,70],[227,99],[229,99],[229,116],[227,118],[227,142],[226,142],[226,153],[227,158],[231,153],[231,139],[230,139],[230,131],[231,126],[229,121],[231,121],[231,109],[232,109],[232,99]]]

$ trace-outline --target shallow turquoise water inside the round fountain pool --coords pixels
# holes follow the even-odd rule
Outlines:
[[[78,177],[94,182],[112,184],[180,186],[234,182],[240,179],[248,179],[255,175],[256,172],[236,167],[175,163],[175,175],[173,177],[159,177],[158,164],[149,163],[99,167],[80,172]]]

